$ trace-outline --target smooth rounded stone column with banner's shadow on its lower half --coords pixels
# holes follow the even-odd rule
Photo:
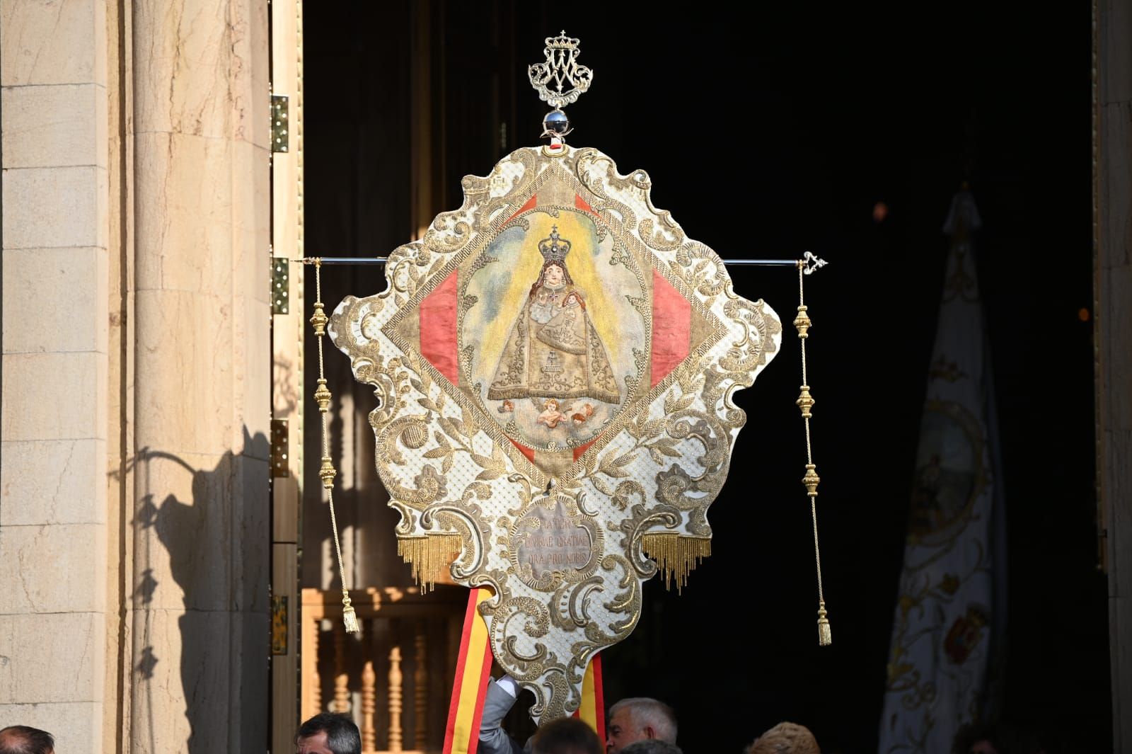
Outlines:
[[[267,746],[267,6],[131,6],[131,752]]]

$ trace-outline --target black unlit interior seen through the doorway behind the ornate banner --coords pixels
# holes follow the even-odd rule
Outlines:
[[[1089,6],[1056,16],[975,3],[751,8],[308,3],[306,250],[372,256],[413,237],[413,60],[431,60],[435,209],[451,209],[464,174],[540,143],[548,108],[525,67],[560,28],[581,37],[594,82],[566,109],[572,145],[600,148],[623,173],[645,169],[654,205],[724,258],[812,250],[830,263],[807,281],[807,357],[833,645],[816,641],[799,362],[787,337],[738,394],[748,423],[711,508],[713,556],[679,597],[646,584],[640,627],[603,654],[606,699],[669,701],[689,754],[741,751],[783,719],[811,727],[823,751],[869,752],[941,295],[941,225],[968,180],[984,222],[976,248],[1009,521],[1002,717],[1047,731],[1050,752],[1110,751]],[[376,271],[335,274],[342,292],[384,289]],[[792,318],[794,273],[731,275],[740,294]]]

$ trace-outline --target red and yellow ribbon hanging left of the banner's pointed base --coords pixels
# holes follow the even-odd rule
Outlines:
[[[491,677],[491,643],[478,607],[490,597],[491,590],[484,588],[473,589],[468,596],[456,680],[452,686],[448,725],[444,732],[444,754],[475,754],[479,745],[483,697]]]

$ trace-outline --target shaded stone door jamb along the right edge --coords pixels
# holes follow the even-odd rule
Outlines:
[[[1113,751],[1132,747],[1132,0],[1097,24],[1097,483],[1108,569]]]

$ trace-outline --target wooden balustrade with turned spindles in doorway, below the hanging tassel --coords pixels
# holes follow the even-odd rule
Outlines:
[[[367,589],[351,591],[350,599],[360,639],[342,627],[341,592],[302,590],[302,719],[324,711],[350,714],[365,754],[439,752],[468,591],[439,584],[424,596],[417,589]]]

